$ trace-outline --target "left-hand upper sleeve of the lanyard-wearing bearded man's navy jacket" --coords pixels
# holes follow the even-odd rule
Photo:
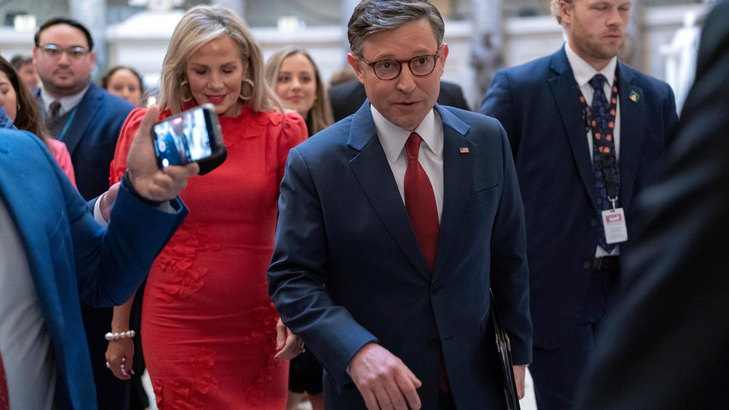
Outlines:
[[[516,158],[519,141],[521,139],[521,130],[518,129],[514,109],[509,78],[504,69],[499,69],[499,71],[496,71],[494,80],[491,81],[491,86],[488,88],[486,97],[483,98],[481,114],[494,117],[502,123],[509,137],[511,152],[514,158]]]

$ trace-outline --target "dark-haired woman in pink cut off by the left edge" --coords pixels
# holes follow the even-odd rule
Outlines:
[[[4,127],[15,126],[19,130],[29,131],[38,136],[75,187],[74,166],[71,164],[71,155],[66,144],[48,136],[36,99],[31,96],[26,85],[20,81],[15,67],[2,57],[0,57],[0,107],[5,109],[7,118],[10,120],[3,124]]]

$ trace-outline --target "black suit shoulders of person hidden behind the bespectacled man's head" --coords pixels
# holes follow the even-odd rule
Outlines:
[[[357,112],[366,99],[367,93],[364,92],[364,84],[359,80],[348,81],[329,89],[329,101],[332,104],[335,121],[343,120]],[[440,82],[437,104],[470,110],[466,99],[463,98],[461,86],[453,84],[453,82]]]

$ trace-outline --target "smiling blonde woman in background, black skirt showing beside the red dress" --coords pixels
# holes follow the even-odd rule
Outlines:
[[[278,50],[268,59],[265,74],[284,107],[305,118],[309,136],[334,123],[319,69],[306,50],[293,46]],[[313,410],[324,410],[322,371],[321,363],[309,349],[291,360],[286,409],[296,409],[306,394]]]

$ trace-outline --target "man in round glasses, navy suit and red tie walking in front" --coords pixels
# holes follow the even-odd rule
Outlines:
[[[425,0],[359,3],[348,60],[369,99],[289,152],[269,292],[324,365],[330,410],[504,409],[489,288],[523,394],[516,173],[498,121],[435,104],[443,31]]]

